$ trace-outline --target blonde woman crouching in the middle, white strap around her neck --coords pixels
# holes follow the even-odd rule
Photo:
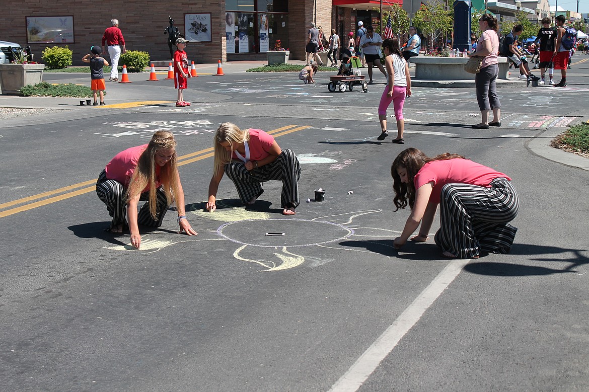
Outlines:
[[[216,210],[217,190],[223,173],[233,181],[243,204],[252,205],[262,195],[262,182],[282,181],[280,207],[294,215],[299,203],[300,165],[292,150],[281,150],[272,135],[262,129],[241,130],[224,122],[214,136],[214,168],[209,184],[207,210]]]

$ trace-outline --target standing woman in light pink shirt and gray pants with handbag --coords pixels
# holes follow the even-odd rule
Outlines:
[[[474,129],[489,129],[489,127],[501,127],[501,102],[497,95],[495,81],[499,76],[499,36],[497,18],[490,14],[481,15],[479,29],[482,34],[477,44],[477,51],[471,57],[482,57],[481,72],[475,75],[477,86],[477,102],[481,109],[481,122],[472,125]],[[493,111],[493,121],[489,122],[489,111]]]

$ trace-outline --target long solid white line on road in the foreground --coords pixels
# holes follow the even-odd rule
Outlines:
[[[395,322],[386,328],[386,331],[376,339],[368,350],[364,351],[362,356],[356,360],[356,363],[333,384],[329,392],[357,391],[370,374],[375,371],[376,367],[379,366],[380,361],[391,353],[403,336],[419,321],[423,313],[452,283],[469,261],[453,260],[446,265],[444,270],[415,298],[413,303],[399,315]]]

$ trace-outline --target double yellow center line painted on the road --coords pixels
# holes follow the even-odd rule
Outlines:
[[[295,127],[295,125],[287,125],[286,127],[273,129],[272,131],[269,131],[268,133],[273,135],[274,137],[279,137],[282,135],[290,134],[292,132],[302,131],[303,129],[310,128],[310,125],[303,125],[302,127],[295,127],[295,128],[292,128],[292,127]],[[290,129],[290,128],[292,128],[292,129]],[[204,160],[205,158],[213,157],[214,156],[213,150],[214,149],[211,147],[211,148],[206,148],[204,150],[191,152],[190,154],[182,155],[181,157],[178,157],[177,165],[183,166],[183,165],[187,165],[187,164],[190,164],[190,163],[193,163],[196,161]],[[203,154],[203,155],[200,155],[200,154]],[[190,157],[194,157],[196,155],[198,155],[198,156],[195,158],[187,159]],[[76,188],[85,187],[86,185],[95,183],[96,181],[97,181],[97,178],[95,178],[94,180],[88,180],[88,181],[84,181],[84,182],[79,182],[78,184],[69,185],[68,187],[59,188],[54,191],[43,192],[43,193],[40,193],[37,195],[21,198],[21,199],[14,200],[14,201],[9,201],[4,204],[0,204],[0,209],[5,208],[5,207],[11,207],[12,205],[16,205],[16,204],[23,204],[28,201],[36,200],[36,199],[46,197],[49,195],[54,195],[54,194],[57,194],[60,192],[67,192],[67,191],[70,191],[70,190],[73,190]],[[45,200],[39,200],[39,201],[33,202],[31,204],[21,205],[21,207],[15,207],[15,208],[11,208],[10,210],[0,211],[0,218],[8,217],[9,215],[13,215],[18,212],[32,210],[32,208],[37,208],[37,207],[41,207],[43,205],[52,204],[54,202],[65,200],[65,199],[68,199],[68,198],[71,198],[74,196],[87,194],[88,192],[92,192],[94,190],[96,190],[96,187],[94,185],[92,185],[91,187],[82,188],[77,191],[68,192],[68,193],[58,195],[55,197],[51,197],[51,198],[48,198]]]

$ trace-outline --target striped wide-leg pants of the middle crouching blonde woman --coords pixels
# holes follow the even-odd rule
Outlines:
[[[282,150],[276,161],[252,171],[248,171],[243,162],[229,162],[225,165],[225,172],[235,184],[239,200],[244,204],[262,195],[262,182],[269,180],[282,181],[281,208],[289,205],[297,207],[300,204],[300,164],[292,150]]]

